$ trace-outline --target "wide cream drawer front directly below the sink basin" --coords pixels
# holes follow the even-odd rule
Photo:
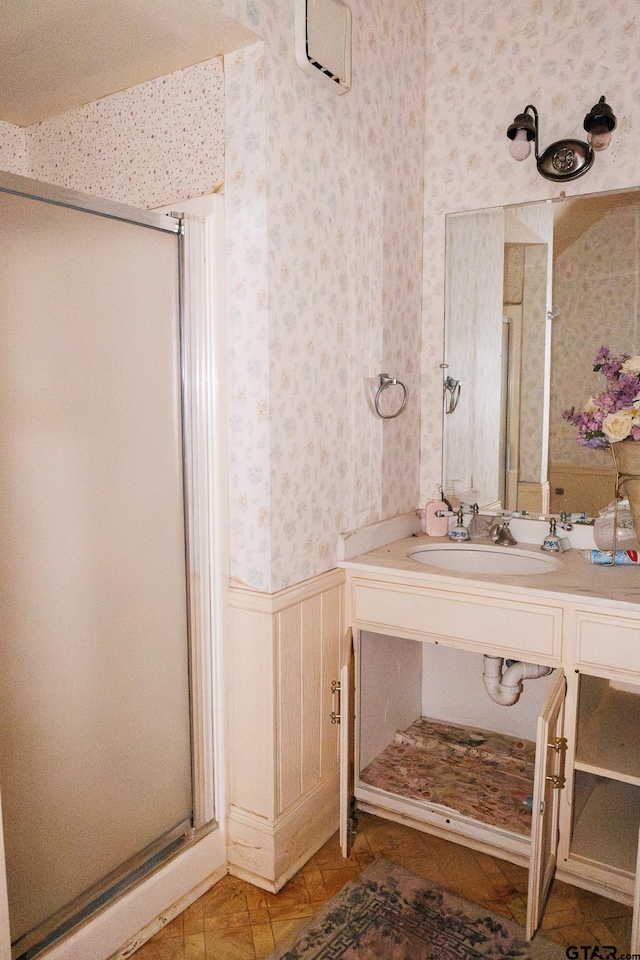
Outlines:
[[[517,601],[465,597],[417,587],[353,581],[358,625],[403,636],[560,660],[562,610]],[[420,639],[419,636],[416,637]]]

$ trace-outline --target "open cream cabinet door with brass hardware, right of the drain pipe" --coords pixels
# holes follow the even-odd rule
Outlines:
[[[540,926],[544,903],[556,869],[560,790],[564,785],[562,721],[566,687],[564,673],[558,670],[538,717],[527,896],[528,940]]]

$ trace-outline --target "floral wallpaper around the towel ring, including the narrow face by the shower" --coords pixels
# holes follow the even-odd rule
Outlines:
[[[350,5],[343,97],[298,68],[293,4],[225,5],[265,40],[225,60],[225,195],[232,572],[270,591],[334,566],[340,529],[418,501],[425,12]],[[410,396],[385,422],[383,372]]]

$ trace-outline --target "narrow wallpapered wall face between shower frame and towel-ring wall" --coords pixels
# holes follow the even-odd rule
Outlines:
[[[271,571],[264,44],[227,54],[224,68],[230,566],[257,585]]]

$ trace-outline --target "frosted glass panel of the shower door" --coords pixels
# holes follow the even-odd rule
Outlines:
[[[178,238],[0,192],[12,940],[190,829]]]

